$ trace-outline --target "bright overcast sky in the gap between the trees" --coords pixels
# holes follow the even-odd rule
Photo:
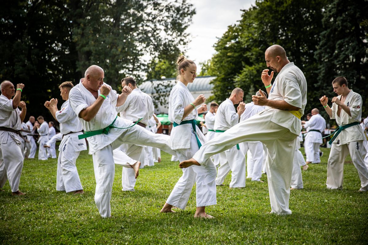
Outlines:
[[[188,44],[187,58],[197,65],[215,53],[213,44],[241,18],[241,10],[249,9],[255,0],[189,0],[195,7],[193,23],[187,29],[193,38]],[[198,67],[198,72],[200,68]]]

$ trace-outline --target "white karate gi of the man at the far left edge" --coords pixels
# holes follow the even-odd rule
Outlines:
[[[13,100],[0,95],[0,127],[21,129],[20,110],[13,109]],[[0,188],[9,180],[11,192],[19,189],[23,168],[21,138],[18,134],[0,130]]]

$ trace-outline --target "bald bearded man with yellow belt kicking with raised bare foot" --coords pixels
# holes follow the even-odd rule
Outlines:
[[[269,97],[252,96],[256,105],[266,109],[238,123],[219,137],[203,145],[192,159],[180,167],[199,165],[211,155],[222,152],[244,141],[261,141],[267,151],[267,179],[271,213],[289,215],[291,173],[297,136],[301,131],[301,116],[307,104],[307,82],[303,72],[287,59],[284,48],[273,45],[267,48],[268,67],[278,72],[272,84],[273,71],[262,71],[261,79]]]

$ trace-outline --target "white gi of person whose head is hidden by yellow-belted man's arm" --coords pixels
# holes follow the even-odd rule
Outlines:
[[[255,105],[253,101],[246,104],[245,111],[240,116],[240,122],[247,120],[264,109],[266,109],[266,107]],[[253,181],[260,181],[262,177],[262,164],[265,161],[263,144],[260,141],[254,141],[243,142],[239,145],[244,155],[250,152],[250,154],[247,155],[247,178]]]

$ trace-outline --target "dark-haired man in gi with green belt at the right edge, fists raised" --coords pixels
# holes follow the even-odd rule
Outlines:
[[[328,105],[328,97],[320,101],[331,119],[336,119],[339,127],[329,141],[331,151],[327,163],[327,181],[329,189],[343,188],[344,161],[348,154],[360,178],[360,190],[368,190],[368,169],[364,164],[366,150],[363,146],[364,132],[359,123],[362,117],[362,97],[348,88],[344,77],[332,81],[333,91],[337,97],[332,98],[332,107]]]

